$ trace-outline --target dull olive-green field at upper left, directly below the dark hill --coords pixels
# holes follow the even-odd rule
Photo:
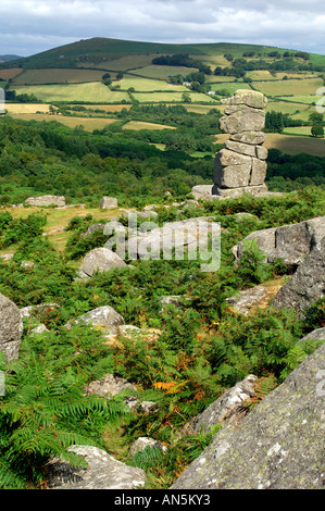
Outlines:
[[[26,70],[20,74],[13,85],[82,84],[100,82],[104,71],[97,70]],[[112,75],[112,78],[115,77]]]

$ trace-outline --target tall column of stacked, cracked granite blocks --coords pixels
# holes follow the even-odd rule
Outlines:
[[[224,102],[227,107],[220,127],[230,137],[225,149],[215,154],[212,194],[238,197],[265,192],[267,150],[262,145],[267,99],[262,92],[239,89]]]

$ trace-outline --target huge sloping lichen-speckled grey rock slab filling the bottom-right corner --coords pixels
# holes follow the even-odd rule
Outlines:
[[[323,488],[324,364],[325,344],[239,425],[221,429],[171,489]]]

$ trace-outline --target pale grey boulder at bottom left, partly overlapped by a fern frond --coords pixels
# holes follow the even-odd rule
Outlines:
[[[72,468],[62,459],[47,464],[49,489],[138,489],[147,481],[141,469],[126,465],[92,446],[72,446],[88,468]]]

